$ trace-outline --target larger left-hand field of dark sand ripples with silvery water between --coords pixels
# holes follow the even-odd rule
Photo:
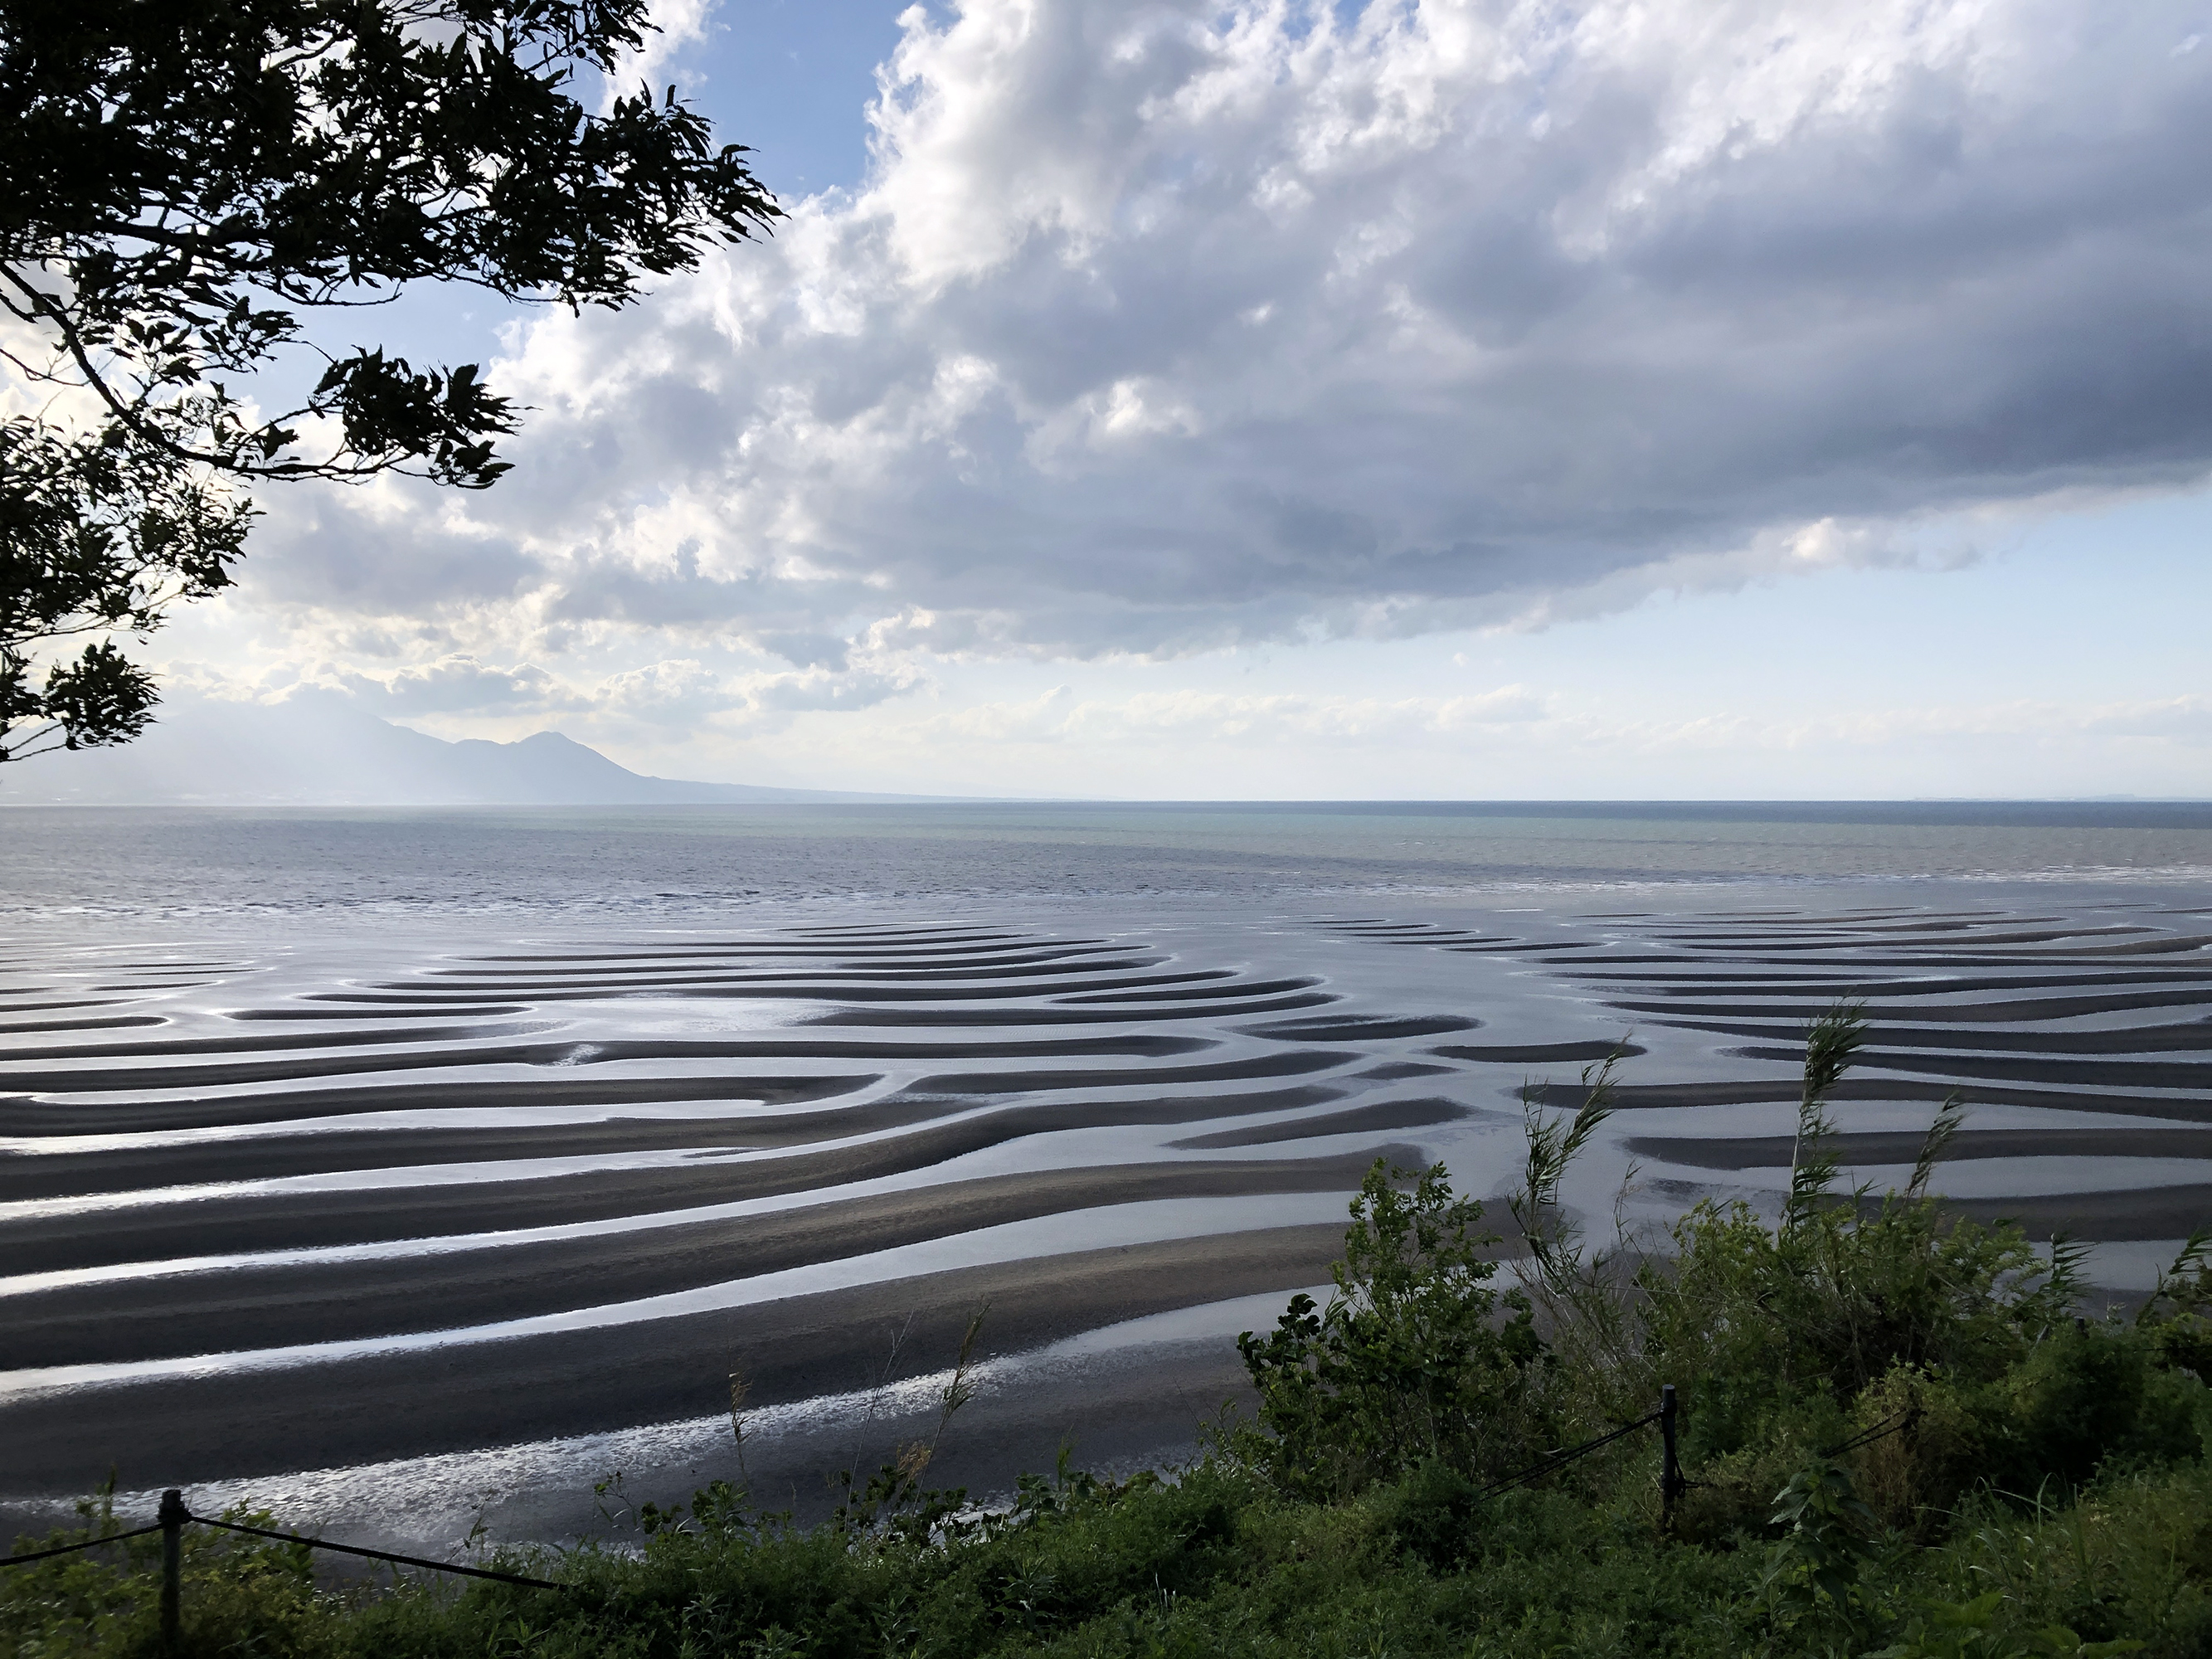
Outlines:
[[[1420,1086],[1451,1066],[1389,1057],[1475,1024],[1004,927],[234,1004],[241,967],[9,964],[0,1433],[33,1486],[681,1418],[732,1363],[803,1398],[869,1371],[878,1316],[927,1367],[982,1298],[1011,1349],[1305,1285],[1371,1159],[1462,1113]]]

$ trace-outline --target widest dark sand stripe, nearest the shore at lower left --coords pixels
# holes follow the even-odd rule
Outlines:
[[[872,1385],[907,1327],[896,1376],[951,1365],[989,1303],[984,1354],[1206,1301],[1312,1285],[1343,1250],[1336,1223],[922,1274],[690,1318],[469,1343],[252,1378],[75,1389],[0,1405],[18,1491],[126,1486],[321,1469],[710,1416],[728,1374],[754,1405]],[[911,1321],[911,1323],[909,1323]]]

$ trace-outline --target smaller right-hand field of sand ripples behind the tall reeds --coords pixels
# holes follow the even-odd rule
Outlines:
[[[1865,1048],[1834,1110],[1847,1172],[1878,1188],[1898,1177],[1933,1108],[1958,1093],[1971,1115],[1938,1181],[1953,1208],[2015,1217],[2042,1239],[2166,1245],[2212,1223],[2208,920],[2203,909],[2143,902],[2088,914],[1582,914],[1535,938],[1433,922],[1336,927],[1520,958],[1666,1048],[1666,1077],[1646,1082],[1630,1066],[1615,1091],[1626,1152],[1666,1197],[1787,1186],[1805,1026],[1854,1002],[1867,1018]],[[1469,1060],[1482,1048],[1438,1053]],[[1584,1053],[1595,1046],[1553,1057]],[[1557,1082],[1537,1095],[1579,1099]]]

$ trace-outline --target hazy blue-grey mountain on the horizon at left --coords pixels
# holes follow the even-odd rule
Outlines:
[[[927,801],[650,779],[560,732],[447,743],[336,692],[281,703],[177,697],[137,743],[0,768],[0,805],[739,805]]]

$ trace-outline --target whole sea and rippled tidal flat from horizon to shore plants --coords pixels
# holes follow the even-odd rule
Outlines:
[[[1378,1161],[1502,1223],[1604,1084],[1568,1208],[1661,1248],[1838,1004],[1847,1181],[1958,1097],[2095,1298],[2212,1223],[2212,803],[4,807],[0,1520],[1172,1464]]]

